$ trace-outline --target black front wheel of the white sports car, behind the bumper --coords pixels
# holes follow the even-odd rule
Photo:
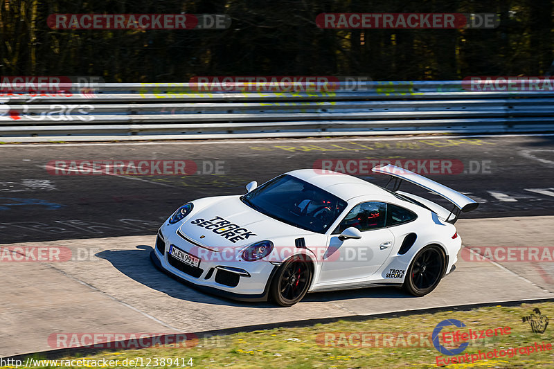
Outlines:
[[[277,305],[292,306],[307,293],[312,282],[312,267],[301,255],[283,262],[269,289],[269,297]]]

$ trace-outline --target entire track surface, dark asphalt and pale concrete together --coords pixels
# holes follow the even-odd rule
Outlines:
[[[552,260],[490,262],[467,249],[456,270],[422,298],[371,288],[309,294],[290,308],[203,294],[157,271],[148,258],[159,224],[186,201],[244,193],[251,180],[313,168],[321,159],[459,161],[458,174],[429,178],[481,203],[456,224],[466,248],[553,246],[553,144],[553,136],[494,136],[0,145],[0,246],[71,250],[66,262],[1,264],[0,357],[59,349],[48,340],[59,332],[248,330],[253,323],[554,298]],[[72,159],[193,160],[201,170],[217,161],[223,170],[151,177],[46,170],[48,161]]]

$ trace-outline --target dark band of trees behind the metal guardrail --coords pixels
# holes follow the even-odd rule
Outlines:
[[[53,30],[52,13],[225,13],[226,30]],[[321,12],[496,12],[494,30],[330,30]],[[0,75],[98,75],[184,82],[193,75],[368,75],[454,80],[544,75],[552,0],[0,0]]]

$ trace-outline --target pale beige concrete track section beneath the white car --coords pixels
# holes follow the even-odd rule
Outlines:
[[[554,217],[527,219],[461,219],[457,226],[470,246],[554,243],[553,236],[540,232]],[[528,230],[522,232],[522,225]],[[456,270],[421,298],[393,287],[373,287],[307,294],[286,308],[242,303],[204,294],[157,271],[148,258],[154,240],[154,235],[148,235],[13,244],[68,248],[74,260],[1,263],[0,357],[78,348],[82,342],[76,339],[78,332],[111,334],[110,341],[114,334],[139,332],[206,337],[337,318],[554,299],[554,263],[538,263],[546,272],[541,274],[536,262],[476,261],[464,249]],[[544,314],[551,316],[551,312]],[[457,312],[451,317],[459,318]],[[506,324],[521,324],[521,318],[516,319]],[[429,321],[425,332],[430,334],[437,323]],[[118,347],[126,346],[111,345]]]

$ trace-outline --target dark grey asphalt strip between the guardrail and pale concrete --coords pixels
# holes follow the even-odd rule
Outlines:
[[[547,135],[0,145],[0,158],[0,244],[150,235],[187,201],[242,194],[249,181],[332,159],[453,161],[456,174],[428,177],[481,203],[464,217],[554,215],[554,136]],[[188,160],[199,173],[55,175],[46,169],[49,161],[110,159]],[[357,175],[386,183],[385,176]],[[415,186],[402,189],[422,194]]]

